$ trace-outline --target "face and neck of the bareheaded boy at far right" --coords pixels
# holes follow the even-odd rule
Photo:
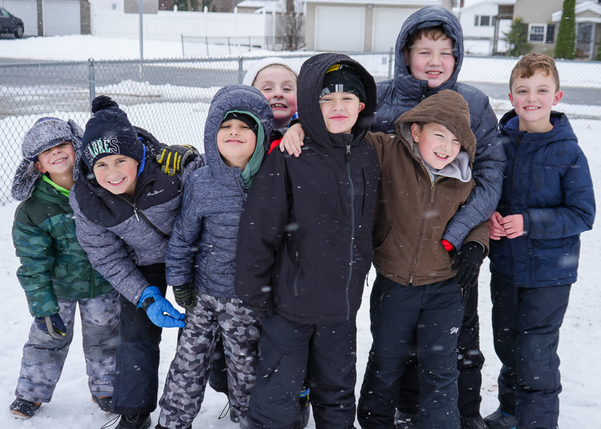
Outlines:
[[[556,86],[553,76],[541,71],[530,78],[514,79],[509,100],[519,116],[520,131],[547,132],[553,128],[551,111],[563,97],[563,91],[557,91]]]

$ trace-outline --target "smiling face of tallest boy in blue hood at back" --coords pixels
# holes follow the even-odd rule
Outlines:
[[[436,88],[449,80],[455,71],[453,40],[448,37],[438,40],[419,38],[405,49],[405,63],[413,78],[427,80],[428,88]]]

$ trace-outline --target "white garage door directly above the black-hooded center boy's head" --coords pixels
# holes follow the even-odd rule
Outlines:
[[[315,49],[317,51],[363,51],[365,8],[315,8]]]

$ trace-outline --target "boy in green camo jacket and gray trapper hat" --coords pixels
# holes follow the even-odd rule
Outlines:
[[[10,406],[12,413],[25,418],[52,399],[73,339],[78,303],[92,400],[105,411],[111,406],[118,294],[93,270],[77,240],[69,206],[82,134],[71,120],[39,119],[25,134],[23,161],[12,183],[12,196],[23,201],[12,228],[21,259],[16,276],[34,316]]]

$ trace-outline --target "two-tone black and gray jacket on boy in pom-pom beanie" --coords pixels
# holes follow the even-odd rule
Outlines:
[[[139,167],[133,200],[100,187],[83,162],[82,174],[69,195],[77,237],[93,268],[134,304],[150,286],[138,266],[165,261],[168,238],[164,235],[171,233],[181,207],[181,188],[196,168],[205,165],[201,155],[186,165],[181,175],[161,173],[161,164],[155,156],[166,145],[148,131],[136,130],[146,146],[146,156]]]

